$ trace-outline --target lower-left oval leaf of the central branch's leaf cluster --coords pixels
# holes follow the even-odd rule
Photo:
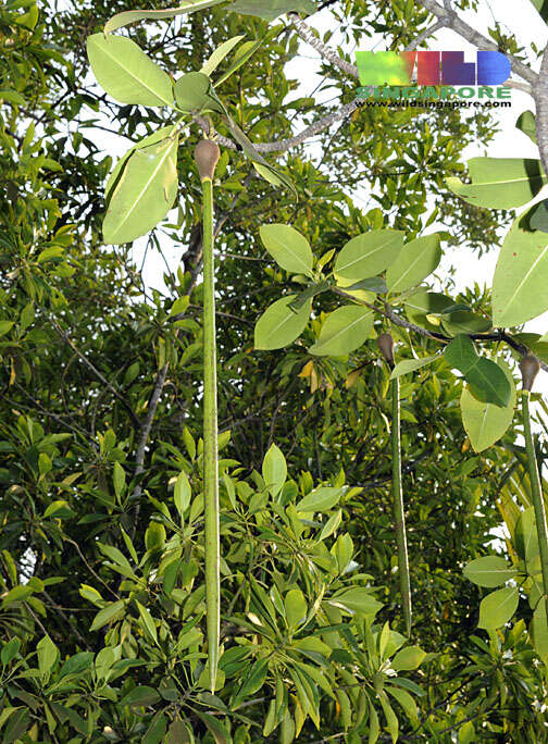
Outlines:
[[[256,349],[281,349],[292,344],[307,327],[312,309],[308,300],[298,312],[289,307],[297,295],[287,295],[276,300],[257,321],[254,330]]]

